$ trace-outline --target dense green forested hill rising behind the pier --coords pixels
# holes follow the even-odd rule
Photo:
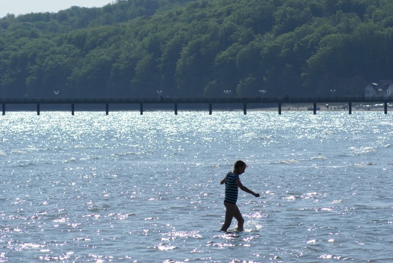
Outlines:
[[[117,0],[1,18],[0,97],[363,96],[392,47],[392,0]]]

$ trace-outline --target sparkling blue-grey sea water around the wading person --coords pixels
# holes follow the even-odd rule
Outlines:
[[[393,115],[7,112],[0,262],[393,261]],[[233,163],[248,164],[224,222]]]

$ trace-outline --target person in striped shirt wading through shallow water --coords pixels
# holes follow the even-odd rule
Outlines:
[[[233,172],[229,172],[221,180],[221,184],[225,183],[224,205],[226,208],[225,223],[221,228],[222,231],[226,231],[229,228],[233,217],[235,217],[237,220],[237,230],[243,231],[244,219],[242,217],[242,214],[240,213],[239,208],[236,205],[238,188],[240,188],[241,190],[247,193],[252,194],[254,197],[259,197],[259,194],[256,194],[250,189],[248,189],[246,186],[242,184],[242,182],[239,179],[239,175],[243,174],[246,168],[247,168],[246,163],[241,160],[238,160],[233,165]]]

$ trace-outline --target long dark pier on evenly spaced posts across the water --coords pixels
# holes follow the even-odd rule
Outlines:
[[[0,98],[2,105],[2,115],[5,115],[5,106],[7,104],[35,104],[37,106],[37,115],[40,115],[41,104],[70,104],[71,113],[75,113],[75,104],[104,104],[106,115],[109,114],[110,104],[139,104],[140,115],[143,114],[144,104],[173,104],[174,113],[177,115],[178,104],[208,104],[209,115],[212,114],[213,104],[241,104],[243,113],[247,114],[248,104],[276,104],[281,115],[282,104],[312,104],[313,114],[316,114],[318,103],[341,103],[348,104],[348,113],[352,114],[353,103],[376,103],[384,105],[384,113],[388,114],[388,103],[393,103],[393,97],[309,97],[309,98],[92,98],[92,99],[70,99],[70,98]]]

